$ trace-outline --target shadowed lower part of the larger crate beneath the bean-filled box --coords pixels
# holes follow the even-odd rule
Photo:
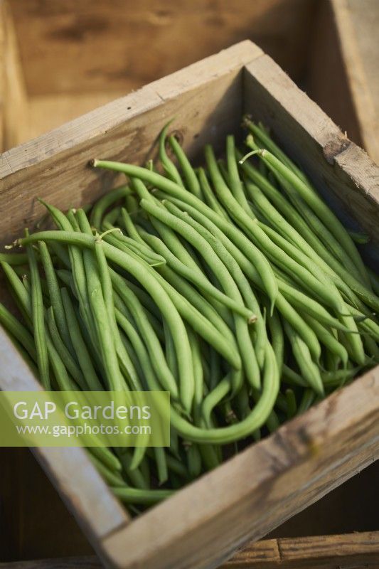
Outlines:
[[[15,489],[4,496],[0,560],[17,560],[5,565],[9,569],[100,567],[100,560],[93,556],[46,474],[30,453],[20,462],[23,455],[19,451],[8,450],[13,459],[8,464],[13,462],[14,466],[8,469],[9,478],[17,473],[21,478],[17,488],[21,486],[23,491]],[[375,462],[262,541],[247,545],[223,569],[292,569],[309,565],[315,569],[316,560],[324,569],[353,562],[354,569],[375,567],[369,564],[374,561],[378,566],[379,532],[374,531],[378,528],[378,476],[379,462]],[[3,478],[4,487],[9,489],[10,484]],[[284,559],[287,565],[283,567],[280,563]],[[18,563],[20,560],[25,564]]]

